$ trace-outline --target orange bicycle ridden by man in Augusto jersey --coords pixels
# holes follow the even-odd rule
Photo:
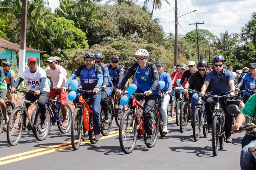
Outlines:
[[[92,93],[92,90],[77,89],[81,95],[79,101],[76,103],[76,108],[72,115],[71,122],[71,144],[74,150],[77,150],[80,146],[81,139],[90,140],[92,144],[96,144],[97,141],[93,140],[93,119],[92,119],[92,107],[90,98],[84,100],[82,93]],[[87,133],[88,132],[88,133]]]

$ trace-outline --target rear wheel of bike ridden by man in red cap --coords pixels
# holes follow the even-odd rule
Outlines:
[[[42,129],[41,128],[41,125],[40,125],[40,111],[37,110],[37,112],[34,112],[36,113],[35,115],[35,120],[34,120],[34,123],[33,123],[33,132],[34,132],[34,135],[36,137],[36,139],[38,141],[41,141],[41,140],[44,140],[49,131],[50,131],[50,128],[51,128],[51,114],[50,114],[50,110],[48,107],[46,107],[46,115],[45,115],[45,121],[46,121],[46,128]]]

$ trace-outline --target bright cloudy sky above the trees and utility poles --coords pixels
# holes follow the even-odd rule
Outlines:
[[[101,4],[104,4],[103,0]],[[163,3],[162,10],[154,11],[155,18],[159,18],[165,32],[174,33],[175,0],[168,0],[171,5]],[[136,1],[142,6],[143,0]],[[59,0],[49,0],[49,7],[52,11],[59,6]],[[152,9],[152,2],[148,3],[148,8]],[[186,34],[193,29],[194,25],[188,23],[203,22],[199,29],[207,29],[219,36],[220,32],[228,30],[229,33],[240,33],[241,27],[250,20],[253,11],[256,11],[255,0],[178,0],[179,15],[192,12],[179,18],[178,33]]]

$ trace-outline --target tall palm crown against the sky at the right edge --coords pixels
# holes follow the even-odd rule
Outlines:
[[[252,41],[256,45],[256,12],[252,13],[251,20],[241,28],[241,38],[244,41]]]

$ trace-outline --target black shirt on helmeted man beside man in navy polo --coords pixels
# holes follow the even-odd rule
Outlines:
[[[194,74],[192,74],[192,76],[190,76],[190,78],[188,79],[188,84],[189,84],[189,88],[190,89],[195,89],[198,91],[198,92],[201,92],[201,88],[202,86],[204,85],[204,79],[206,77],[206,75],[211,72],[209,70],[206,70],[204,76],[201,76],[199,74],[199,71],[196,71]],[[195,88],[191,88],[190,86],[194,86]],[[206,92],[211,92],[212,91],[212,86],[211,86],[211,83],[208,85],[207,89],[206,89]]]

